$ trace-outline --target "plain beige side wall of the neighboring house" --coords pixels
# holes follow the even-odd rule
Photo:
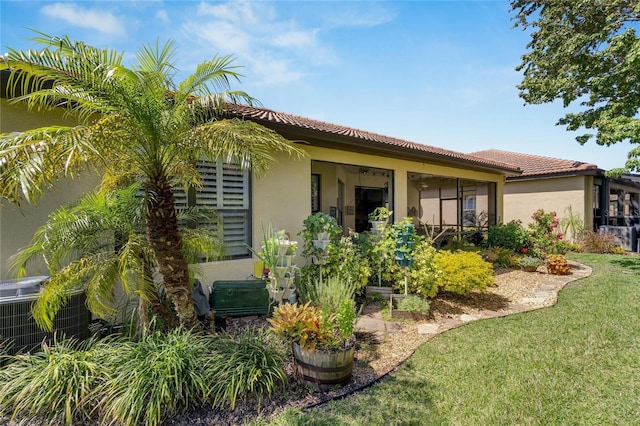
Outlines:
[[[502,222],[520,220],[524,226],[542,208],[555,211],[558,218],[568,216],[568,208],[582,218],[586,229],[593,226],[593,177],[570,176],[535,180],[514,180],[504,188]]]

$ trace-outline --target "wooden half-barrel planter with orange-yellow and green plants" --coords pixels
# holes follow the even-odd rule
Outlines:
[[[271,330],[291,342],[296,370],[304,381],[325,386],[351,380],[358,316],[356,287],[340,278],[308,283],[304,304],[278,306],[268,319]]]

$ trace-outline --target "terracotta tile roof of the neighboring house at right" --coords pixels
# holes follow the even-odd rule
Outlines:
[[[470,155],[486,158],[487,160],[513,164],[522,170],[518,178],[542,177],[553,175],[572,174],[599,174],[601,170],[595,164],[583,163],[581,161],[561,160],[558,158],[542,157],[539,155],[520,154],[517,152],[500,151],[497,149],[487,149],[473,152]]]

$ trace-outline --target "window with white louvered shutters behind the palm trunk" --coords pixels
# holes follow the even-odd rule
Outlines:
[[[186,194],[176,189],[176,209],[186,206],[202,206],[214,209],[221,221],[226,255],[249,256],[251,245],[249,174],[233,164],[199,161],[197,169],[202,178],[202,188]],[[217,224],[211,225],[214,229]]]

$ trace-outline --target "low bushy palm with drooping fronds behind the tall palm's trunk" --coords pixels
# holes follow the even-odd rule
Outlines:
[[[139,182],[124,188],[101,188],[84,195],[71,206],[61,206],[36,230],[31,243],[10,259],[18,275],[26,273],[29,262],[43,259],[50,279],[33,304],[36,322],[52,330],[58,310],[71,290],[84,288],[89,310],[99,317],[117,313],[115,288],[121,284],[127,295],[138,299],[138,320],[148,328],[148,310],[162,324],[175,326],[172,312],[161,300],[154,283],[154,254],[144,236],[144,199]],[[179,213],[179,222],[209,222],[210,212],[190,208]],[[191,261],[223,256],[220,232],[186,229],[182,252]],[[197,267],[192,272],[198,273]]]

